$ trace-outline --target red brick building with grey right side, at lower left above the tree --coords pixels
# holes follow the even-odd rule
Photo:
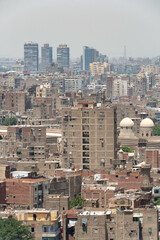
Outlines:
[[[6,179],[6,204],[15,209],[42,208],[48,193],[47,179]]]

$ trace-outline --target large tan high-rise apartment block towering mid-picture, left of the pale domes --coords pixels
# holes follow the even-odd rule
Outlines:
[[[110,168],[116,158],[116,108],[81,100],[63,109],[63,166]]]

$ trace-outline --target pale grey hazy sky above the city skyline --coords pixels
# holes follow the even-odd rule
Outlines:
[[[23,57],[27,41],[83,46],[109,57],[160,55],[160,0],[0,0],[0,57]]]

